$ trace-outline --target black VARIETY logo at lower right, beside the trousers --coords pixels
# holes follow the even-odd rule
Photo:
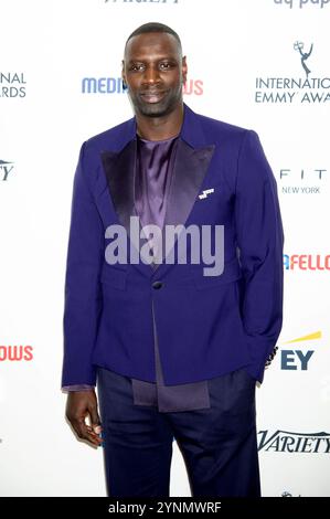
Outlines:
[[[258,451],[267,453],[329,454],[330,434],[291,433],[288,431],[259,431]]]

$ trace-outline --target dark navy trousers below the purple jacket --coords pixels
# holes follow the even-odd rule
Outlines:
[[[210,409],[135,405],[128,377],[98,368],[109,497],[169,497],[172,442],[193,497],[259,497],[255,381],[241,369],[210,379]]]

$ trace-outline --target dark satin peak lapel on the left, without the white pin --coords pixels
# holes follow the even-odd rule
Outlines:
[[[129,235],[130,216],[134,212],[134,181],[136,163],[136,139],[119,152],[105,151],[102,161],[119,223]]]

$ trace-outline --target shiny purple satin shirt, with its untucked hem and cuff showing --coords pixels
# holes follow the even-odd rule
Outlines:
[[[173,179],[179,137],[166,140],[146,140],[137,136],[137,167],[135,178],[135,209],[141,225],[163,227],[167,201]],[[155,335],[156,383],[131,379],[134,404],[155,405],[160,412],[191,411],[210,407],[207,381],[164,385],[159,357],[152,301]],[[67,385],[64,391],[94,389],[87,384]]]

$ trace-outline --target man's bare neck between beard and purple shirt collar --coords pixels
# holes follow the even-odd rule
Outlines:
[[[183,104],[163,117],[146,117],[136,114],[137,134],[147,140],[166,140],[175,137],[183,121]]]

